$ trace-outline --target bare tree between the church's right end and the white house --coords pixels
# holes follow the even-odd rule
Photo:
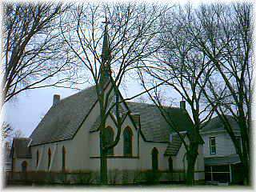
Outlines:
[[[213,66],[210,65],[211,61],[206,57],[206,54],[194,46],[194,38],[191,38],[186,31],[186,27],[190,25],[192,19],[190,18],[190,11],[190,6],[178,7],[169,17],[166,17],[166,22],[162,26],[164,32],[160,38],[164,46],[156,55],[157,62],[145,64],[145,68],[141,69],[142,72],[146,72],[144,76],[149,74],[154,82],[166,81],[165,89],[175,91],[182,100],[188,103],[194,126],[188,130],[189,144],[184,141],[183,144],[186,148],[188,163],[186,183],[193,185],[198,146],[203,142],[199,131],[206,126],[206,122],[209,122],[214,114],[214,107],[206,103],[203,94],[206,83],[213,72]],[[142,85],[146,89],[142,72],[140,72]],[[157,89],[159,90],[159,88]],[[150,96],[150,98],[156,102],[158,109],[162,110],[162,115],[166,117],[171,129],[178,132],[179,128],[174,126],[174,122],[171,122],[168,108],[164,107],[159,96],[155,92],[154,97]],[[182,137],[180,135],[181,139]]]

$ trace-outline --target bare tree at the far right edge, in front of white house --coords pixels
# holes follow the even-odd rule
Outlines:
[[[215,74],[204,94],[218,114],[234,142],[250,183],[250,121],[252,98],[252,6],[201,6],[187,31],[195,45],[213,63]],[[216,86],[218,85],[218,86]],[[231,114],[242,138],[242,148],[226,114]]]

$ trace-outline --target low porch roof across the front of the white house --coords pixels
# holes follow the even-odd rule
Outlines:
[[[206,166],[227,165],[227,164],[235,164],[238,162],[241,162],[238,154],[230,154],[224,157],[205,158]]]

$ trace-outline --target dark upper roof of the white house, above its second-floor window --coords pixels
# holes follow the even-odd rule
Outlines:
[[[232,116],[226,115],[226,118],[230,122],[230,125],[232,126],[233,130],[235,131],[240,130],[238,126],[238,122],[236,122]],[[201,133],[225,130],[222,120],[218,116],[210,119],[209,122],[206,122],[206,123],[207,124],[205,127],[202,128]]]

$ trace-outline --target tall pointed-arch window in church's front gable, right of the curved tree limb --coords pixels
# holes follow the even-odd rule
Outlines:
[[[130,127],[126,127],[123,131],[123,154],[126,156],[132,156],[132,141],[133,141],[133,132],[130,130]]]

